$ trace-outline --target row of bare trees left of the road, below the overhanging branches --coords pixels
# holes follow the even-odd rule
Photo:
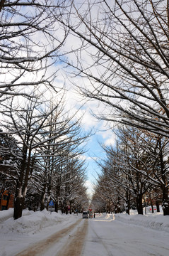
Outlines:
[[[40,97],[23,105],[14,102],[15,97],[1,113],[5,132],[0,149],[3,185],[15,190],[14,218],[21,217],[28,190],[40,195],[41,210],[51,198],[64,202],[65,208],[71,201],[80,203],[82,194],[87,201],[86,167],[80,158],[89,134],[82,132],[80,119],[73,120],[62,102],[53,105]],[[11,146],[4,144],[3,136],[7,142],[12,139]]]

